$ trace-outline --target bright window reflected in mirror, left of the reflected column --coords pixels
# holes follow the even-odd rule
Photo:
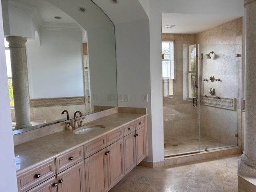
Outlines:
[[[5,58],[6,58],[6,67],[7,67],[7,76],[8,76],[8,86],[9,86],[9,97],[10,97],[10,106],[14,107],[13,99],[13,90],[12,90],[12,68],[11,68],[11,57],[9,50],[9,43],[4,38],[4,47],[5,47]]]

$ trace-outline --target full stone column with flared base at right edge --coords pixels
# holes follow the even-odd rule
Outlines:
[[[256,0],[244,0],[246,7],[246,107],[244,153],[238,160],[238,174],[256,177]]]

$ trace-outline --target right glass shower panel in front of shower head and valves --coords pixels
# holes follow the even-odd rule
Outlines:
[[[238,45],[200,45],[200,151],[237,146],[241,51]]]

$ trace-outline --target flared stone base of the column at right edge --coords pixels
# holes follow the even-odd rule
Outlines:
[[[242,154],[238,159],[238,174],[256,177],[256,162]]]

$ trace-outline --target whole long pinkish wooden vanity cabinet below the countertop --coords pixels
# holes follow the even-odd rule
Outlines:
[[[19,192],[107,192],[147,156],[146,117],[17,176]]]

